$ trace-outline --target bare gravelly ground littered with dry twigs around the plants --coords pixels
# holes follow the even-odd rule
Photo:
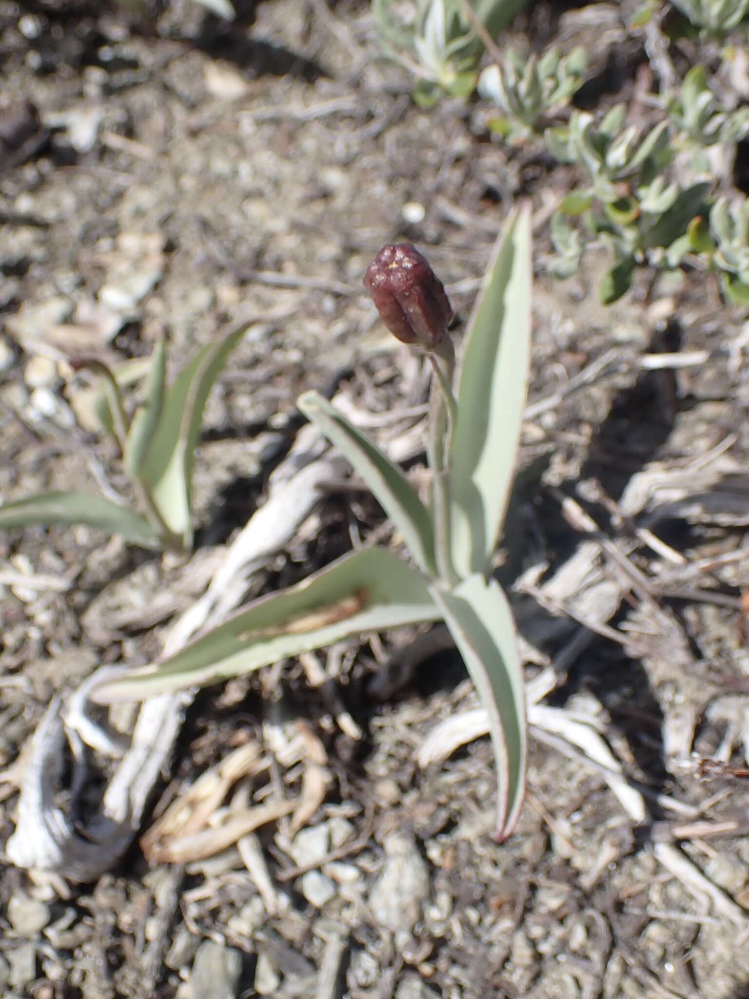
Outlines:
[[[535,333],[497,566],[556,734],[539,720],[520,823],[497,845],[490,747],[438,634],[203,690],[149,796],[148,837],[113,869],[80,884],[0,853],[0,993],[749,994],[743,314],[718,311],[696,275],[608,309],[598,274],[548,278],[567,168],[491,141],[477,105],[414,106],[377,59],[366,4],[238,4],[232,25],[187,2],[132,22],[114,5],[21,6],[0,2],[4,91],[39,120],[20,123],[12,156],[0,147],[0,498],[127,491],[66,357],[147,356],[166,333],[182,359],[230,321],[265,319],[209,402],[189,562],[84,528],[0,535],[2,842],[53,698],[175,641],[295,456],[325,459],[301,391],[340,394],[418,482],[426,373],[382,338],[364,270],[382,243],[411,240],[464,320],[519,197],[538,234]],[[630,100],[645,56],[619,5],[557,6],[531,5],[513,30],[587,45],[601,106]],[[208,589],[211,613],[374,536],[398,544],[331,461],[288,541]],[[114,715],[117,738],[133,714]],[[64,756],[63,810],[67,743]],[[84,829],[115,766],[85,760]],[[176,802],[171,832],[154,829]],[[246,826],[217,853],[227,815]],[[203,845],[170,853],[188,832]]]

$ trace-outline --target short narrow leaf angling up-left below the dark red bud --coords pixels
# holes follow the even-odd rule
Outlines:
[[[426,507],[400,470],[320,393],[306,392],[297,405],[343,452],[397,529],[418,567],[433,575],[434,536]]]

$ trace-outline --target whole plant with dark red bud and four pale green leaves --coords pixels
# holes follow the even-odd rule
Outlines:
[[[526,722],[522,664],[507,599],[491,574],[514,479],[531,332],[530,212],[497,240],[468,321],[459,377],[452,309],[410,244],[383,247],[365,277],[387,329],[432,370],[430,501],[317,392],[302,412],[375,495],[409,559],[384,547],[351,551],[302,582],[252,601],[173,655],[100,684],[100,703],[216,683],[341,639],[442,620],[489,718],[497,770],[496,838],[522,803]]]

